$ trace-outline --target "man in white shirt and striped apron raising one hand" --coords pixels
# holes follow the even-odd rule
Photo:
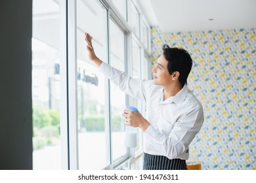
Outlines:
[[[131,78],[96,57],[91,35],[85,34],[91,59],[120,90],[146,102],[146,118],[124,110],[125,124],[144,131],[144,165],[147,170],[186,169],[188,146],[203,124],[203,108],[186,79],[192,59],[182,48],[163,46],[163,54],[152,69],[153,80]]]

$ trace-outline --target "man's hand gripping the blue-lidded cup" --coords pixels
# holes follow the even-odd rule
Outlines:
[[[125,118],[125,125],[130,125],[131,127],[140,127],[142,131],[145,131],[150,125],[150,123],[143,118],[140,112],[125,109],[122,116]]]

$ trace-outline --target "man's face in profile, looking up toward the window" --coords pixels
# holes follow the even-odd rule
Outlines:
[[[161,86],[171,84],[172,80],[171,75],[169,74],[167,69],[167,63],[168,61],[165,59],[163,54],[161,54],[160,58],[158,58],[158,63],[152,69],[154,84]]]

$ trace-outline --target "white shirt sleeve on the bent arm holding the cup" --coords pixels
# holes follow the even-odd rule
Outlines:
[[[203,109],[192,108],[188,114],[182,116],[174,125],[169,136],[160,133],[150,125],[145,136],[152,141],[152,146],[160,150],[161,156],[175,159],[179,154],[188,151],[188,146],[200,131],[203,124]]]

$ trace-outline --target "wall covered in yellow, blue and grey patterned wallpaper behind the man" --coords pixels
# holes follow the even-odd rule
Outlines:
[[[188,87],[205,121],[190,144],[202,169],[256,169],[256,29],[161,33],[152,27],[152,62],[161,46],[181,46],[194,60]]]

